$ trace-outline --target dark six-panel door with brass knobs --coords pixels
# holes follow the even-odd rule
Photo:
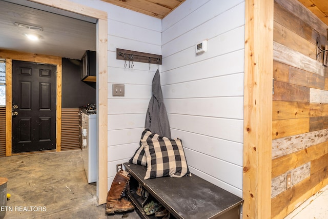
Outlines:
[[[12,152],[56,149],[56,66],[12,62]]]

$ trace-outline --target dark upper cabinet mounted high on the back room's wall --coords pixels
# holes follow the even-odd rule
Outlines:
[[[96,52],[87,50],[81,58],[81,80],[96,82]]]

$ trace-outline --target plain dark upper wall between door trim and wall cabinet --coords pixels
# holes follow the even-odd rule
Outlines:
[[[78,108],[96,103],[96,83],[80,79],[80,61],[63,58],[62,108]]]

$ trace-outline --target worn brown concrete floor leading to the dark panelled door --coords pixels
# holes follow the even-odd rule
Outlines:
[[[80,150],[0,157],[0,167],[11,194],[5,219],[140,219],[136,211],[106,215],[106,205],[97,205],[96,185],[87,182]]]

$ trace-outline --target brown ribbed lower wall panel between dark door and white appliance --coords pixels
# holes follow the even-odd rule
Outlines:
[[[61,109],[61,150],[80,149],[78,108]]]

